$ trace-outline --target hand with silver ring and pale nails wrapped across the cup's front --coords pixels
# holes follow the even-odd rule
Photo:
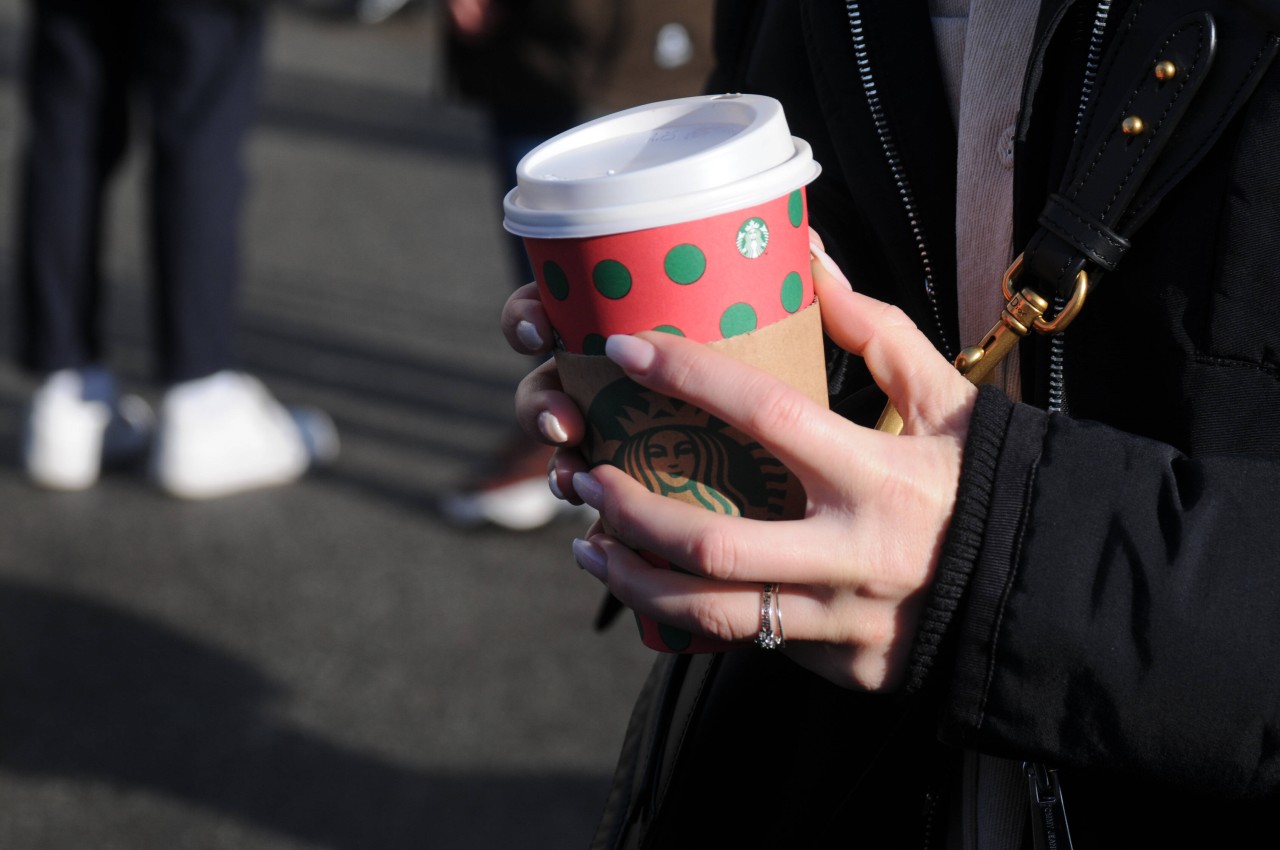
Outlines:
[[[900,310],[852,292],[817,246],[815,257],[826,330],[867,360],[902,413],[902,435],[858,426],[705,346],[660,333],[612,337],[607,353],[632,380],[703,407],[781,460],[804,484],[806,515],[781,522],[721,516],[650,493],[611,466],[588,472],[580,458],[563,458],[553,480],[572,471],[576,494],[616,533],[594,529],[573,548],[627,607],[694,634],[746,641],[760,626],[762,586],[778,582],[783,652],[835,682],[892,689],[955,504],[977,390]],[[522,417],[536,422],[557,411],[571,444],[581,419],[561,398],[554,374],[535,373],[521,388]],[[654,568],[631,547],[694,575]]]

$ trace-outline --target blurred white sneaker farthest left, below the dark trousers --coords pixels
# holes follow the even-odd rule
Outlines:
[[[119,396],[105,369],[59,370],[31,401],[22,445],[27,477],[51,490],[84,490],[104,463],[140,458],[152,424],[151,407]]]

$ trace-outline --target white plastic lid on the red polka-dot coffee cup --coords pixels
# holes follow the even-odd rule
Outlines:
[[[819,170],[772,97],[666,100],[588,122],[530,151],[503,201],[503,225],[535,238],[663,227],[769,201]]]

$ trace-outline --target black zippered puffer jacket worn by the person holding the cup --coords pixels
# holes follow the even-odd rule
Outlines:
[[[1212,128],[1157,175],[1158,204],[1065,334],[1061,369],[1033,338],[1021,351],[1027,403],[980,394],[910,693],[840,693],[785,661],[730,654],[722,672],[751,672],[713,703],[740,708],[712,704],[721,722],[685,741],[691,769],[646,791],[664,804],[650,846],[938,846],[963,749],[1061,768],[1076,850],[1253,846],[1271,835],[1276,6],[1108,5],[1100,55],[1129,13],[1171,27],[1204,9],[1217,55],[1243,70],[1204,90],[1216,105],[1196,120]],[[1016,147],[1019,246],[1068,168],[1098,6],[1041,10]],[[778,97],[813,145],[823,174],[812,219],[855,287],[904,307],[950,356],[975,342],[956,332],[956,142],[923,0],[732,0],[718,49],[713,88]],[[870,384],[861,365],[833,364],[833,403],[878,411],[858,403]],[[1055,380],[1068,413],[1044,410]]]

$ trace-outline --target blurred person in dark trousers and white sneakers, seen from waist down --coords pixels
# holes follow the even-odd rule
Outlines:
[[[241,154],[262,70],[261,5],[32,0],[28,12],[14,315],[19,362],[40,380],[22,447],[29,479],[81,490],[104,462],[150,449],[161,489],[212,498],[332,460],[328,416],[287,410],[234,369]],[[151,146],[157,417],[120,394],[101,338],[104,201],[138,125],[134,106]]]

